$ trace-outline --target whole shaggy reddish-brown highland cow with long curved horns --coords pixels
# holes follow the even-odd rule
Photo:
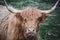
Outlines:
[[[50,10],[33,7],[16,10],[8,6],[5,0],[4,2],[11,14],[0,23],[0,40],[39,40],[39,23],[45,21],[48,13],[55,10],[59,0]]]

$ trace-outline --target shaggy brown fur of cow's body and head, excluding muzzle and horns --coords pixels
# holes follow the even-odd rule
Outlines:
[[[20,13],[10,14],[9,17],[4,18],[0,23],[0,39],[28,40],[28,38],[26,38],[27,35],[25,35],[25,30],[27,27],[32,26],[37,31],[34,40],[38,40],[39,22],[45,20],[46,17],[47,14],[32,7]]]

